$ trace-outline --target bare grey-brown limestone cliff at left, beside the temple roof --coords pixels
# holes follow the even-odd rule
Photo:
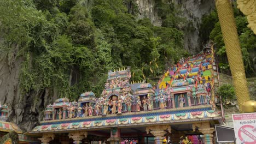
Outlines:
[[[48,89],[20,92],[19,74],[24,58],[19,57],[17,51],[18,46],[10,55],[0,55],[0,101],[9,106],[9,121],[29,131],[42,120],[44,107],[56,98],[49,96]]]

